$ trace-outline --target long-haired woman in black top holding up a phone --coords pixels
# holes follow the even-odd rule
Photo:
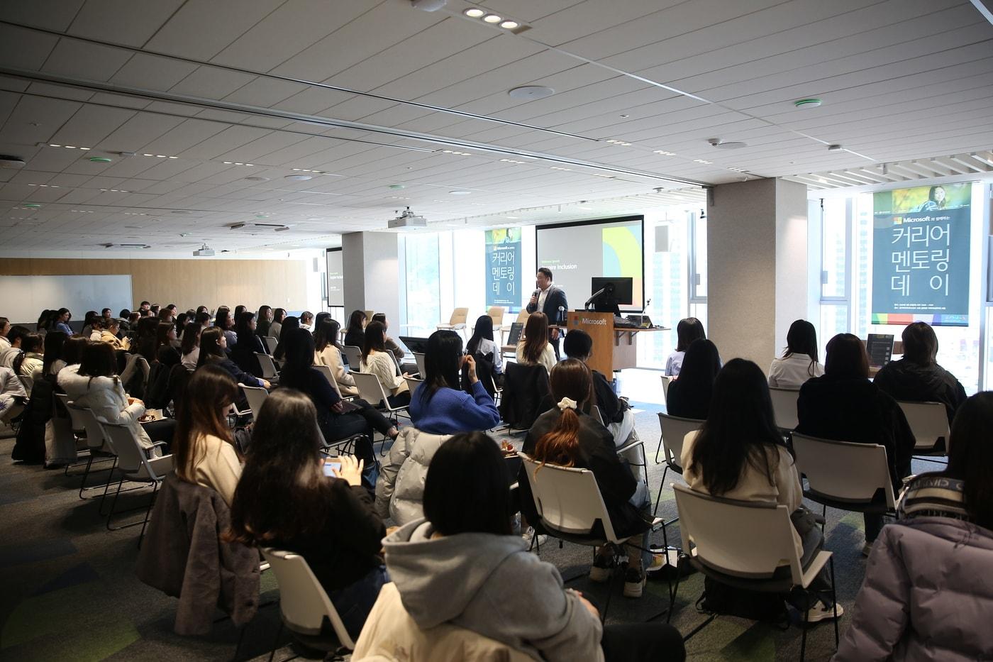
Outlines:
[[[226,538],[301,555],[357,639],[389,581],[380,556],[386,530],[361,486],[361,460],[343,455],[340,470],[325,472],[315,414],[311,399],[292,389],[266,399]]]

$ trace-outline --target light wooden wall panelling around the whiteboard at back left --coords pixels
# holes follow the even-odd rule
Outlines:
[[[175,303],[180,310],[239,303],[252,310],[262,304],[302,310],[307,306],[306,267],[302,259],[0,259],[0,275],[129,273],[134,307],[148,300]]]

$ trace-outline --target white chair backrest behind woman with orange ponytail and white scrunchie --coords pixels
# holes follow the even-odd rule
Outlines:
[[[525,467],[527,482],[534,497],[534,508],[542,526],[552,535],[561,532],[573,536],[591,534],[597,523],[603,525],[604,537],[620,543],[614,533],[610,514],[589,469],[540,464],[524,453],[517,453]]]

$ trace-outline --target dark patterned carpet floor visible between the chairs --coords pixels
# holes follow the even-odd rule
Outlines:
[[[638,433],[648,454],[648,477],[657,494],[661,465],[652,461],[658,441],[660,407],[637,403]],[[513,439],[511,439],[513,440]],[[210,636],[181,637],[173,633],[176,602],[135,578],[140,527],[109,532],[97,514],[95,500],[78,498],[78,473],[46,471],[22,466],[10,459],[14,442],[0,439],[0,659],[51,660],[227,660],[238,637],[229,620],[220,620]],[[924,470],[927,465],[916,465]],[[73,475],[75,474],[75,475]],[[669,472],[666,482],[679,480]],[[125,498],[126,497],[126,498]],[[147,503],[141,490],[122,496],[124,505]],[[142,511],[138,511],[139,517]],[[675,515],[672,490],[662,490],[659,514]],[[130,514],[131,517],[135,513]],[[861,555],[862,518],[854,513],[828,511],[826,547],[834,553],[838,598],[851,609],[865,572]],[[126,521],[126,520],[123,520]],[[678,524],[669,528],[670,544],[678,543]],[[661,544],[661,532],[654,537]],[[541,558],[553,563],[569,585],[588,592],[603,604],[606,584],[585,577],[591,560],[588,548],[566,544],[559,549],[549,541]],[[684,579],[679,587],[672,623],[684,634],[702,622],[694,604],[702,590],[700,576]],[[263,601],[278,598],[271,573],[262,578]],[[640,599],[621,595],[619,585],[610,603],[608,622],[646,620],[668,604],[668,585],[649,580]],[[218,612],[218,618],[221,616]],[[664,618],[664,616],[663,616]],[[843,616],[841,627],[847,625]],[[278,607],[261,609],[246,628],[240,659],[267,659],[278,628]],[[283,635],[277,660],[295,651]],[[800,630],[720,617],[687,643],[690,660],[795,660]],[[808,630],[808,660],[827,660],[834,651],[830,621]],[[263,657],[264,656],[264,657]]]

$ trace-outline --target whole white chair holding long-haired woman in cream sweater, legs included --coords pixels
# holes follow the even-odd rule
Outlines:
[[[830,564],[832,593],[835,593],[834,561],[830,552],[821,550],[805,568],[800,565],[786,506],[720,499],[674,483],[671,487],[679,511],[683,556],[706,577],[735,588],[783,593],[794,586],[806,588],[824,566]],[[781,565],[783,562],[786,565]],[[671,594],[670,613],[678,589],[677,579]],[[834,598],[837,605],[836,595]],[[808,613],[803,613],[804,625],[808,622]],[[699,632],[716,616],[711,615],[684,640]],[[807,628],[803,627],[801,660],[806,652],[806,631]],[[837,608],[834,645],[837,648]]]

